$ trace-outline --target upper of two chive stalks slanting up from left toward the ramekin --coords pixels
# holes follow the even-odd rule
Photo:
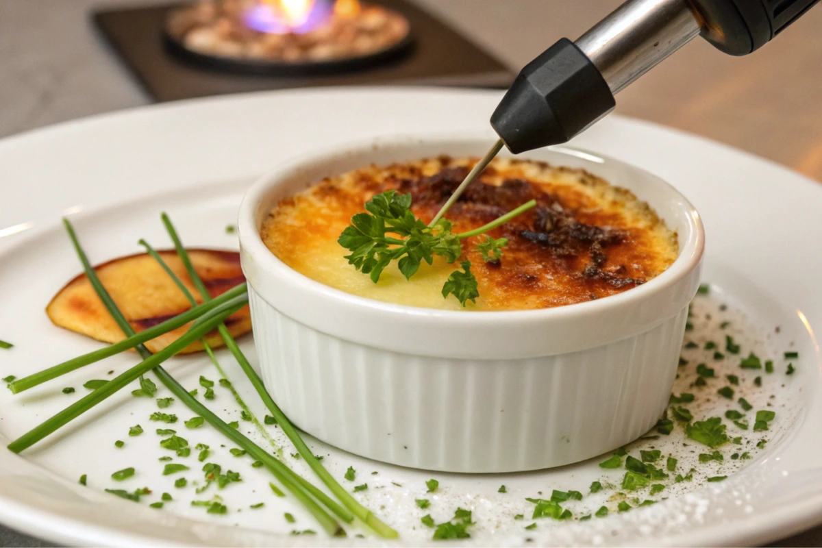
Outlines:
[[[37,385],[41,385],[48,380],[56,379],[58,376],[65,375],[71,371],[75,371],[76,369],[79,369],[82,366],[87,366],[90,363],[95,363],[95,361],[100,361],[106,357],[113,356],[114,354],[118,354],[129,348],[134,348],[137,345],[145,343],[145,341],[149,341],[152,338],[159,337],[159,335],[168,333],[173,329],[177,329],[182,325],[186,325],[188,322],[192,320],[196,320],[205,312],[214,310],[217,306],[220,306],[225,302],[230,301],[234,297],[244,295],[246,293],[246,289],[246,284],[241,283],[238,286],[229,289],[229,291],[224,292],[219,297],[216,297],[213,301],[204,302],[199,306],[194,306],[188,309],[187,311],[182,312],[182,314],[175,315],[173,318],[165,320],[161,324],[154,325],[149,329],[145,329],[140,333],[132,335],[131,337],[124,338],[122,341],[119,341],[118,343],[113,343],[105,348],[100,348],[99,350],[95,350],[94,352],[89,352],[82,356],[72,358],[71,360],[63,361],[62,363],[56,366],[49,367],[48,369],[38,371],[33,375],[29,375],[27,377],[23,377],[22,379],[15,380],[14,382],[12,382],[12,384],[8,385],[8,387],[12,390],[12,394],[19,394],[24,390],[28,390],[30,388],[34,388]]]

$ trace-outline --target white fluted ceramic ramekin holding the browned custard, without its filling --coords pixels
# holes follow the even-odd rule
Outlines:
[[[499,312],[377,302],[308,279],[261,241],[271,208],[323,177],[482,154],[489,142],[400,136],[337,146],[279,165],[247,192],[238,228],[261,373],[303,431],[401,466],[516,472],[603,454],[662,414],[700,282],[704,229],[685,197],[639,168],[567,147],[521,154],[634,191],[679,235],[679,257],[663,274],[592,302]]]

